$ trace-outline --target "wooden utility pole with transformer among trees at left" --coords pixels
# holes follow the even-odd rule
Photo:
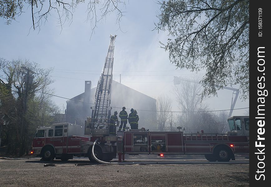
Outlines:
[[[25,94],[24,94],[24,101],[23,101],[23,111],[22,111],[22,126],[21,126],[21,140],[20,140],[20,151],[19,151],[19,156],[23,155],[23,149],[24,149],[24,129],[25,129],[25,113],[26,113],[26,108],[27,108],[27,92],[28,92],[28,85],[33,84],[33,78],[32,74],[36,74],[35,72],[29,70],[26,67],[22,67],[22,69],[27,70],[27,73],[23,77],[23,81],[25,83]]]

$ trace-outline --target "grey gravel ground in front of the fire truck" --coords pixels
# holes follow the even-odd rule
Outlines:
[[[54,163],[56,166],[44,167]],[[88,163],[88,166],[75,166]],[[201,162],[202,163],[202,162]],[[249,186],[249,164],[101,165],[83,160],[0,159],[0,186],[235,187]]]

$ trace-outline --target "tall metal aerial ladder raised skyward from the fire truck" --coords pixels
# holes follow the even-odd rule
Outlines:
[[[114,55],[114,42],[117,35],[110,35],[110,43],[108,47],[107,56],[104,63],[104,69],[97,84],[95,93],[94,110],[92,111],[93,127],[92,134],[108,134],[108,130],[100,130],[103,125],[108,129],[109,118],[111,116],[111,84],[113,79],[113,55]],[[96,130],[95,130],[96,129]]]

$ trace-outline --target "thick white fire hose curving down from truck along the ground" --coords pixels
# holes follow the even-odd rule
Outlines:
[[[135,165],[135,164],[210,164],[209,162],[105,162],[99,160],[95,155],[94,155],[94,146],[96,142],[99,140],[96,139],[94,141],[94,144],[92,146],[92,156],[94,159],[102,164],[115,164],[115,165]],[[211,162],[212,164],[244,164],[244,162]]]

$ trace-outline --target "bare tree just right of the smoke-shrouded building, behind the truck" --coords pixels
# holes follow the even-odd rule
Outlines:
[[[157,99],[157,126],[158,131],[166,131],[166,124],[171,117],[172,99],[161,95]]]

